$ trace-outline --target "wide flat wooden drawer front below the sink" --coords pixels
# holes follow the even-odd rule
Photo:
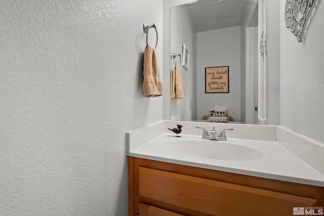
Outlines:
[[[211,215],[292,215],[293,207],[315,207],[316,199],[208,180],[145,167],[140,197]]]

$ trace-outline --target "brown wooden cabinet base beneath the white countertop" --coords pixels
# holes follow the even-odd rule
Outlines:
[[[321,187],[129,157],[129,215],[293,215]]]

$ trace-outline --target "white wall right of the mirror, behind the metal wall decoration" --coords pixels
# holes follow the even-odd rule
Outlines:
[[[324,5],[317,3],[298,42],[280,1],[280,125],[324,143]]]

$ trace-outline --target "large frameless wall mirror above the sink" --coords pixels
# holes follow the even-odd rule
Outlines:
[[[199,0],[170,8],[170,53],[182,55],[185,45],[190,54],[180,67],[184,97],[170,99],[171,120],[217,121],[206,117],[219,106],[229,123],[266,124],[265,7],[265,0]],[[170,58],[170,70],[175,65]],[[206,93],[206,68],[224,66],[228,91]]]

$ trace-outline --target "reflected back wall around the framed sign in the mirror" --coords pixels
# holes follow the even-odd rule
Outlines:
[[[224,40],[223,38],[227,38]],[[226,106],[228,115],[240,121],[240,26],[197,33],[197,118],[214,106]],[[205,67],[229,66],[229,93],[205,93]]]

